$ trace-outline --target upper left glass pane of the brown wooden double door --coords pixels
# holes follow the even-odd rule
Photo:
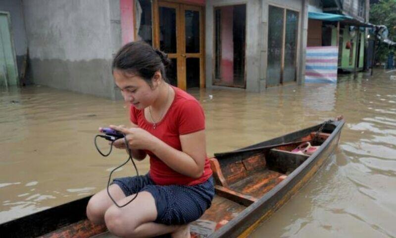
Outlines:
[[[176,53],[176,9],[159,7],[159,48]]]

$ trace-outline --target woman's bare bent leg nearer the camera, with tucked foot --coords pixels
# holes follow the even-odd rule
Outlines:
[[[120,204],[125,204],[134,196],[121,199]],[[119,237],[153,237],[167,233],[172,233],[175,238],[190,237],[188,225],[166,226],[154,223],[156,218],[155,200],[147,191],[139,192],[138,197],[125,207],[110,206],[104,214],[107,229]]]

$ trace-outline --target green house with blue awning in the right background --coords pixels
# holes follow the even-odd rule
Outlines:
[[[337,46],[338,71],[363,69],[369,9],[369,0],[310,0],[307,47]]]

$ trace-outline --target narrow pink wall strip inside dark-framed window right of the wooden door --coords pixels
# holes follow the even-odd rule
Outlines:
[[[232,83],[234,79],[233,6],[221,7],[221,79]]]

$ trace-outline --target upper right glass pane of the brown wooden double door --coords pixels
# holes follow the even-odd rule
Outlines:
[[[186,10],[186,53],[199,53],[199,11]]]

